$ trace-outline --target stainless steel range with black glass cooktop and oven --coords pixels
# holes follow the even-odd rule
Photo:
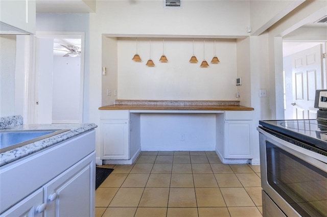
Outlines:
[[[327,216],[327,90],[317,119],[259,121],[264,216]]]

